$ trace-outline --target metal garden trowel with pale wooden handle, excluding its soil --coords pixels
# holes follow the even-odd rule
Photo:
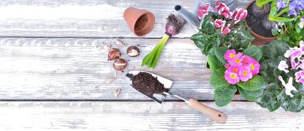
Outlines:
[[[133,84],[132,84],[132,80],[131,80],[131,75],[135,76],[135,75],[139,74],[140,72],[144,72],[144,71],[131,71],[131,72],[127,73],[126,80],[132,87],[133,87]],[[145,73],[149,73],[149,72],[145,72]],[[170,87],[172,86],[173,81],[170,81],[168,79],[165,79],[163,77],[157,76],[152,73],[149,73],[149,74],[151,74],[153,77],[156,77],[160,83],[164,84],[164,88],[170,89]],[[171,93],[169,93],[169,91],[164,92],[164,94],[144,94],[142,92],[140,92],[140,93],[160,104],[162,104],[162,102],[165,100],[166,95],[174,96],[176,98],[179,98],[179,99],[185,101],[185,103],[187,103],[187,105],[190,108],[193,108],[193,109],[196,109],[196,110],[202,112],[203,114],[207,115],[212,120],[214,120],[218,123],[224,124],[227,121],[227,115],[225,113],[218,111],[216,109],[213,109],[211,107],[208,107],[206,105],[203,105],[198,100],[193,99],[193,98],[187,99],[187,98],[184,98],[177,94],[171,94]]]

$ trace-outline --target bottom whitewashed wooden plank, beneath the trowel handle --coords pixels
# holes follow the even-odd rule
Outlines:
[[[210,122],[184,102],[0,102],[0,129],[98,130],[302,130],[304,112],[275,112],[254,102],[226,107],[203,104],[228,115],[225,124]],[[208,124],[208,125],[207,125]]]

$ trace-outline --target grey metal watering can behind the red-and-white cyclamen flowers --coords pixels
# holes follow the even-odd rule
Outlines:
[[[229,7],[230,11],[234,11],[236,9],[235,5],[238,0],[219,0],[221,3],[226,4]],[[192,27],[199,32],[198,29],[201,29],[204,17],[200,20],[198,17],[199,7],[203,6],[204,4],[210,4],[208,11],[212,11],[215,7],[217,0],[194,0],[194,6],[192,12],[184,9],[183,7],[176,5],[174,10],[178,12],[188,23],[192,25]],[[213,14],[217,14],[216,11],[212,12]]]

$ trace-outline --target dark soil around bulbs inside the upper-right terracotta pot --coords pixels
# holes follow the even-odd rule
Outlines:
[[[252,12],[252,5],[250,4],[247,8],[248,15],[245,18],[247,25],[250,27],[251,31],[263,36],[263,37],[274,37],[271,33],[271,29],[267,30],[262,24],[263,17],[257,17]]]

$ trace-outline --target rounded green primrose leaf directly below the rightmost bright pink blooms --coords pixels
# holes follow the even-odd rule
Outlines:
[[[255,75],[251,79],[249,79],[247,82],[240,81],[238,83],[238,86],[240,86],[241,88],[248,90],[248,91],[260,90],[264,86],[264,79],[262,76]]]

